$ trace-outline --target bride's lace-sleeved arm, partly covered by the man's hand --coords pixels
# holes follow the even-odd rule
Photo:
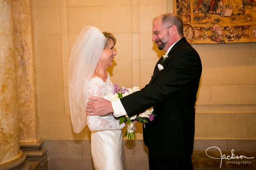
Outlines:
[[[103,85],[101,83],[92,83],[88,89],[87,97],[104,97]],[[114,116],[87,116],[87,125],[91,131],[95,130],[116,130],[125,126],[125,123],[119,124],[119,119]]]

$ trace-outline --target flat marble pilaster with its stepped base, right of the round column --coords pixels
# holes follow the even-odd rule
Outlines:
[[[39,137],[36,59],[34,54],[33,1],[12,0],[14,44],[17,66],[17,109],[20,125],[20,149],[27,161],[39,162],[48,169],[47,150]]]

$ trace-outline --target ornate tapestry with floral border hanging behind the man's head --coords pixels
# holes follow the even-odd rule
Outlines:
[[[256,0],[174,0],[190,44],[256,42]]]

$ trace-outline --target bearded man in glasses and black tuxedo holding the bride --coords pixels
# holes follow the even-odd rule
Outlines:
[[[197,51],[183,37],[183,21],[174,14],[162,14],[153,20],[153,38],[167,58],[156,63],[152,79],[140,91],[112,102],[89,98],[86,113],[129,117],[154,106],[155,116],[143,127],[149,150],[150,170],[192,170],[196,95],[201,77]],[[166,56],[165,56],[166,57]]]

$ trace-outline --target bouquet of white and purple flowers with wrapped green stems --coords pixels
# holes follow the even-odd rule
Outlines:
[[[113,100],[116,98],[125,97],[126,95],[134,93],[135,91],[140,91],[140,88],[136,86],[134,86],[133,88],[119,87],[119,85],[115,83]],[[154,119],[154,116],[156,116],[153,114],[153,112],[154,112],[154,109],[153,107],[151,107],[145,110],[144,112],[134,115],[130,118],[128,117],[127,114],[119,117],[120,124],[123,123],[125,120],[127,121],[126,133],[125,133],[125,136],[127,137],[127,139],[129,140],[135,139],[136,126],[134,121],[139,121],[140,123],[143,123],[143,125],[145,125],[145,123],[148,123],[148,119],[149,121],[152,121]]]

